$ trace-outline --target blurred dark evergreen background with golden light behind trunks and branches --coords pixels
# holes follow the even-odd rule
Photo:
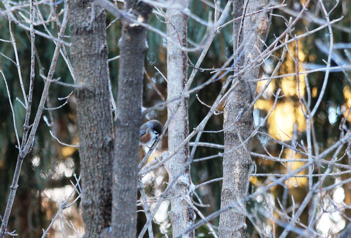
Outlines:
[[[23,4],[26,1],[20,2]],[[219,1],[218,1],[219,2]],[[119,8],[122,8],[120,2],[115,2]],[[290,16],[296,16],[302,8],[302,4],[305,1],[301,0],[287,0],[287,5],[281,9],[274,9],[272,15],[272,22],[270,31],[266,40],[266,44],[269,45],[275,40],[275,36],[280,35],[286,29],[286,22],[289,21]],[[327,1],[325,6],[327,10],[331,9],[335,5],[336,1]],[[11,2],[15,5],[16,2]],[[220,1],[220,8],[223,10],[226,1]],[[277,4],[277,2],[276,2]],[[279,4],[279,3],[278,3]],[[332,57],[332,66],[349,65],[351,62],[351,15],[348,11],[347,6],[351,5],[350,0],[343,0],[340,2],[336,9],[331,13],[330,19],[337,19],[344,16],[343,20],[333,25],[333,39],[334,39],[334,50]],[[52,11],[53,5],[41,4],[39,5],[41,14],[44,19],[49,19],[46,23],[46,27],[49,29],[53,36],[57,35],[58,28],[53,16],[50,14],[57,12],[58,18],[62,20],[62,11],[64,3],[61,2],[56,5],[57,11]],[[192,14],[207,21],[209,18],[213,19],[214,4],[212,1],[207,0],[194,0],[191,1],[189,9]],[[3,11],[5,7],[0,4],[0,8]],[[220,10],[220,9],[219,9]],[[29,8],[18,9],[14,11],[15,16],[18,19],[23,19],[23,15],[29,18]],[[166,10],[165,10],[166,11]],[[317,19],[317,20],[316,20]],[[107,13],[106,14],[106,26],[109,25],[115,18]],[[164,20],[164,19],[161,19]],[[230,17],[227,21],[231,20]],[[304,15],[303,19],[298,22],[296,28],[292,32],[292,36],[300,35],[306,32],[306,29],[312,30],[324,24],[324,16],[321,12],[320,5],[317,1],[311,1],[309,11]],[[155,14],[152,14],[150,25],[155,28],[166,31],[166,25],[156,18]],[[3,16],[0,17],[0,38],[4,40],[10,40],[8,21]],[[42,25],[35,26],[35,29],[45,32]],[[192,17],[189,18],[188,22],[188,46],[190,48],[194,45],[200,46],[206,40],[208,31],[212,30],[208,26],[199,23]],[[31,49],[30,49],[30,38],[28,32],[24,29],[15,26],[12,23],[12,31],[16,40],[16,46],[19,53],[21,73],[24,79],[24,86],[28,89],[29,84],[29,73],[30,73],[30,60],[31,60]],[[117,20],[107,29],[107,44],[109,58],[113,58],[119,55],[118,40],[121,35],[121,21]],[[69,28],[66,30],[66,35],[69,35]],[[291,38],[291,37],[290,37]],[[65,41],[69,42],[69,38],[65,38]],[[144,77],[144,91],[143,91],[143,106],[144,109],[154,106],[157,103],[163,102],[164,98],[167,98],[167,82],[163,76],[160,75],[158,70],[164,75],[167,75],[166,67],[166,39],[162,36],[148,31],[147,33],[148,49],[145,54],[145,70],[146,74]],[[341,45],[343,43],[343,45]],[[325,67],[324,61],[327,60],[327,54],[329,50],[329,31],[324,28],[312,35],[298,40],[298,55],[296,53],[296,43],[293,42],[288,45],[289,52],[286,54],[286,58],[282,64],[277,75],[284,75],[296,72],[296,64],[294,58],[298,57],[300,64],[298,66],[299,71],[315,69]],[[37,61],[35,71],[35,83],[33,93],[33,106],[32,106],[32,118],[38,107],[41,92],[44,86],[43,80],[40,77],[40,73],[44,75],[48,73],[49,65],[52,60],[55,45],[52,41],[42,38],[36,35],[35,38],[36,55]],[[69,48],[66,47],[69,53]],[[202,49],[194,52],[189,52],[190,60],[195,64]],[[15,59],[14,50],[11,43],[1,42],[0,52],[11,59]],[[201,64],[202,68],[220,68],[224,62],[233,53],[233,32],[232,24],[223,28],[214,39],[205,60]],[[265,64],[261,65],[260,78],[269,77],[278,62],[278,58],[282,54],[282,49],[274,53],[276,58],[271,57]],[[110,77],[112,82],[112,91],[114,96],[117,95],[117,81],[118,81],[118,60],[111,61],[110,66]],[[157,69],[155,68],[157,67]],[[19,136],[21,137],[23,122],[25,119],[25,109],[16,98],[22,98],[22,92],[19,83],[19,77],[16,66],[13,62],[6,59],[4,56],[0,56],[0,69],[4,72],[6,80],[9,86],[11,94],[11,101],[14,106],[16,127],[19,130]],[[189,73],[192,67],[189,67]],[[212,74],[211,71],[198,72],[193,82],[192,88],[196,87],[206,80],[208,80]],[[229,74],[230,75],[230,74]],[[284,97],[279,98],[276,108],[269,116],[268,120],[260,128],[260,132],[264,132],[269,136],[262,136],[258,138],[255,136],[252,140],[252,152],[257,154],[267,154],[266,150],[274,157],[282,159],[303,159],[300,154],[296,154],[290,149],[282,147],[282,145],[276,143],[273,139],[283,141],[284,143],[291,144],[291,138],[296,138],[297,142],[304,141],[306,145],[306,120],[300,108],[298,101],[298,89],[302,97],[307,97],[307,91],[311,93],[312,107],[317,101],[318,95],[322,88],[325,72],[315,72],[305,75],[300,75],[299,85],[297,84],[296,76],[282,77],[274,79],[265,93],[257,101],[254,106],[254,124],[257,126],[263,118],[272,109],[275,93],[279,88],[282,89]],[[228,76],[228,75],[227,75]],[[198,94],[201,101],[208,105],[212,105],[216,96],[219,93],[222,82],[226,80],[224,76],[220,81],[211,83],[204,89],[201,89]],[[322,102],[318,108],[317,113],[313,118],[314,130],[317,135],[317,143],[320,151],[324,151],[329,148],[332,144],[339,140],[340,130],[339,125],[342,120],[346,120],[346,126],[350,128],[351,117],[347,117],[350,106],[351,106],[351,81],[349,72],[331,72],[327,83],[326,91],[322,98]],[[66,66],[65,61],[62,57],[59,57],[54,79],[60,78],[61,82],[73,84],[72,76]],[[267,81],[259,81],[257,86],[257,92],[263,88]],[[309,90],[308,90],[309,89]],[[63,102],[59,101],[58,98],[66,97],[73,91],[72,87],[64,87],[58,84],[51,84],[49,91],[49,97],[46,103],[46,107],[58,107]],[[14,126],[11,108],[8,103],[8,96],[4,80],[0,80],[0,214],[3,215],[8,199],[9,189],[12,182],[14,169],[16,165],[16,159],[18,156],[18,149],[16,149],[16,137],[14,134]],[[223,108],[218,108],[223,110]],[[196,98],[195,94],[191,94],[189,98],[189,123],[190,131],[196,127],[208,112],[208,108],[202,105]],[[44,115],[48,118],[51,126],[49,127],[44,120],[41,120],[37,134],[35,136],[35,142],[32,152],[24,159],[22,170],[19,179],[19,188],[16,193],[13,209],[9,224],[7,226],[8,231],[16,230],[16,233],[20,234],[21,237],[34,238],[42,235],[42,229],[46,229],[51,219],[58,211],[59,203],[63,202],[72,191],[72,185],[70,181],[75,181],[74,174],[79,176],[79,153],[78,148],[67,147],[61,145],[55,140],[49,133],[52,133],[62,142],[67,144],[75,145],[79,142],[78,131],[77,131],[77,118],[76,118],[76,105],[74,94],[69,99],[68,104],[64,107],[53,110],[45,111]],[[166,107],[160,108],[159,110],[151,111],[145,115],[143,122],[151,119],[157,119],[164,123],[167,119]],[[205,130],[221,130],[223,129],[223,115],[214,115],[208,121]],[[203,133],[201,136],[201,142],[210,142],[215,144],[223,145],[223,132],[219,133]],[[161,152],[167,150],[167,137],[163,138],[161,145],[155,151],[154,156],[160,155]],[[339,158],[347,151],[341,150]],[[210,155],[216,155],[219,152],[223,152],[221,149],[209,148],[209,147],[198,147],[196,150],[195,158],[202,158]],[[141,157],[144,155],[144,151],[140,150]],[[351,153],[346,153],[342,157],[339,163],[345,165],[351,165]],[[330,159],[329,157],[325,159]],[[252,162],[254,169],[257,174],[286,174],[287,171],[291,171],[299,168],[305,162],[294,161],[294,162],[277,162],[269,159],[265,159],[262,156],[252,156]],[[323,172],[325,168],[320,168]],[[342,169],[334,168],[333,172],[345,171]],[[254,171],[253,171],[254,172]],[[318,171],[314,171],[316,174]],[[300,175],[307,174],[307,171],[303,171]],[[195,185],[206,182],[214,178],[222,177],[222,158],[217,157],[214,159],[208,159],[201,162],[196,162],[191,165],[192,181]],[[167,176],[165,171],[159,169],[154,172],[151,177],[156,176],[157,179],[146,184],[146,191],[148,196],[157,199],[160,192],[165,189]],[[350,173],[342,175],[329,176],[324,182],[323,186],[335,184],[342,180],[350,178]],[[269,176],[252,176],[250,179],[250,192],[254,192],[260,186],[264,186],[273,181],[274,178]],[[317,177],[314,178],[317,181]],[[150,180],[150,177],[145,177],[145,181]],[[307,187],[306,187],[307,185]],[[318,207],[318,211],[315,216],[320,216],[316,224],[316,230],[320,234],[329,237],[335,237],[336,234],[342,230],[351,216],[351,210],[349,205],[351,203],[351,189],[350,183],[345,183],[338,186],[335,189],[326,191],[321,199],[323,200],[324,206]],[[255,213],[258,209],[268,210],[269,204],[283,203],[283,206],[291,208],[292,204],[299,204],[303,201],[308,191],[308,178],[299,177],[293,178],[286,181],[285,184],[273,187],[270,193],[264,194],[258,197],[256,200],[247,204],[247,209],[252,212],[250,219],[247,219],[247,237],[259,237],[258,230],[262,229],[267,237],[273,233],[275,236],[279,236],[282,232],[282,228],[278,225],[274,225],[272,220],[266,219],[259,213]],[[201,198],[201,202],[198,198],[194,197],[194,201],[197,203],[207,204],[208,206],[199,207],[199,210],[206,216],[220,208],[220,192],[221,192],[221,181],[213,182],[204,186],[201,186],[196,190],[197,196]],[[74,196],[77,197],[77,194]],[[334,203],[343,207],[342,211],[328,213],[324,212],[323,209],[329,208],[332,204],[328,197],[333,198]],[[75,197],[72,197],[72,201]],[[152,199],[151,199],[152,200]],[[152,207],[152,205],[151,205]],[[304,211],[303,215],[300,216],[299,225],[303,227],[308,226],[308,206]],[[170,222],[167,217],[167,210],[169,209],[168,201],[165,201],[161,206],[160,211],[154,220],[155,237],[164,237],[161,231],[168,232],[171,234]],[[279,216],[277,213],[276,216]],[[138,213],[139,227],[143,226],[145,222],[145,216],[142,212]],[[197,216],[199,219],[199,216]],[[53,228],[49,231],[48,237],[76,237],[74,230],[71,228],[71,223],[82,235],[84,233],[83,223],[79,212],[79,200],[70,208],[63,211],[57,221],[54,223]],[[218,226],[218,217],[211,221],[211,224],[216,227]],[[141,228],[140,228],[141,229]],[[203,226],[196,230],[197,237],[211,237],[208,233],[207,227]],[[297,237],[295,233],[290,233],[288,237]],[[148,237],[145,234],[145,237]]]

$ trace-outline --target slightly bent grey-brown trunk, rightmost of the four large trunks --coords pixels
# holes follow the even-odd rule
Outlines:
[[[240,15],[236,10],[243,6],[242,0],[233,3],[233,17]],[[267,0],[250,0],[247,5],[246,13],[251,13],[259,9],[263,9],[267,5]],[[244,7],[245,8],[245,7]],[[241,8],[242,9],[242,8]],[[242,13],[241,13],[242,14]],[[268,19],[266,14],[254,14],[246,16],[243,26],[243,42],[249,40],[246,52],[244,54],[244,61],[250,62],[250,58],[254,59],[262,50]],[[234,37],[240,35],[238,32],[238,25],[234,24]],[[240,43],[240,40],[239,40]],[[256,47],[254,46],[256,45]],[[234,51],[237,45],[234,44]],[[253,49],[254,48],[254,49]],[[253,50],[252,50],[253,49]],[[250,54],[252,56],[250,57]],[[249,58],[250,57],[250,58]],[[240,66],[240,65],[239,65]],[[223,128],[229,128],[224,132],[224,147],[225,156],[223,158],[223,187],[221,193],[221,208],[226,207],[231,202],[243,198],[246,193],[247,184],[249,181],[250,169],[250,149],[251,140],[246,142],[244,146],[232,151],[233,148],[238,147],[241,141],[245,141],[252,132],[253,123],[253,108],[247,108],[256,95],[256,82],[246,82],[248,79],[256,79],[258,77],[259,67],[254,67],[247,71],[243,77],[239,78],[238,86],[228,97],[224,107],[224,125]],[[243,111],[242,111],[243,110]],[[242,113],[241,113],[242,111]],[[241,114],[236,121],[237,116]],[[231,152],[228,152],[231,151]],[[245,208],[246,204],[243,204]],[[219,237],[220,238],[244,238],[246,232],[245,215],[240,212],[242,209],[232,209],[220,215],[219,218]]]

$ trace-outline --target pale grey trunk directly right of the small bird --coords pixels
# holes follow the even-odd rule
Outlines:
[[[182,9],[188,7],[188,0],[168,0],[170,5],[181,5]],[[187,82],[187,57],[185,53],[179,49],[181,46],[187,46],[187,22],[188,16],[175,9],[167,9],[166,19],[167,34],[173,42],[167,41],[167,98],[175,98],[181,94]],[[179,42],[175,44],[174,42]],[[168,116],[175,108],[177,102],[172,102],[168,110]],[[188,122],[188,98],[184,98],[177,112],[173,115],[172,121],[168,126],[168,150],[173,151],[189,134]],[[170,161],[169,171],[170,179],[179,174],[184,164],[189,159],[189,145],[186,144],[183,149],[179,150]],[[171,197],[171,211],[169,216],[172,223],[173,237],[188,229],[195,220],[195,213],[192,205],[193,191],[191,189],[190,166],[180,176],[177,183],[169,192]],[[186,200],[184,199],[186,198]],[[188,233],[186,237],[194,237],[194,232]]]

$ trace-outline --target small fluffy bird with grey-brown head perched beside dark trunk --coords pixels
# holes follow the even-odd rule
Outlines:
[[[140,144],[148,148],[155,142],[162,131],[162,124],[157,120],[146,122],[140,127]]]

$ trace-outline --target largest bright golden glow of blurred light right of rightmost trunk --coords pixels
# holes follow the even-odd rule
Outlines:
[[[296,62],[293,59],[296,54],[296,45],[294,43],[290,44],[288,48],[289,52],[292,54],[292,57],[286,57],[284,60],[282,68],[279,72],[280,75],[296,72]],[[299,47],[298,50],[298,57],[299,62],[303,62],[306,58],[306,55],[301,50],[301,47]],[[299,72],[302,72],[302,63],[299,63],[298,67]],[[273,109],[272,114],[269,116],[267,120],[268,132],[277,140],[290,141],[290,138],[293,136],[292,125],[294,123],[297,123],[299,132],[306,130],[306,120],[303,114],[303,110],[305,111],[305,108],[303,107],[302,110],[300,104],[296,102],[296,97],[305,96],[305,76],[301,74],[299,75],[298,79],[297,76],[294,75],[273,80],[266,89],[267,93],[265,93],[263,97],[256,102],[255,108],[266,110],[267,113],[272,110],[273,99],[271,94],[275,90],[275,82],[279,83],[279,87],[282,89],[282,94],[284,95],[284,100],[278,101],[276,108]],[[257,83],[257,93],[262,90],[266,83],[267,80],[259,81]],[[313,89],[312,94],[317,94],[317,89]],[[266,100],[264,96],[265,98],[270,99]]]

